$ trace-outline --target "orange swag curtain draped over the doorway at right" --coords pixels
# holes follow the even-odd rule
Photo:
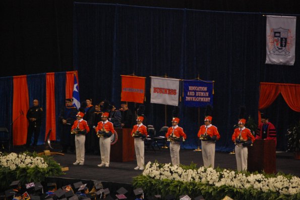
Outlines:
[[[260,96],[258,109],[268,108],[281,93],[286,104],[293,111],[300,112],[300,84],[260,83]],[[261,122],[260,111],[258,121]]]

